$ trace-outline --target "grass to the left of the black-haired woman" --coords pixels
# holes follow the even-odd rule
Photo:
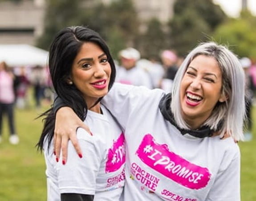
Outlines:
[[[42,128],[40,111],[16,110],[18,145],[10,145],[4,121],[0,144],[0,201],[46,201],[45,161],[35,145]]]

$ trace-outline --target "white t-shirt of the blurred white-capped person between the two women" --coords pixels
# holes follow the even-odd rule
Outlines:
[[[135,86],[145,86],[147,88],[152,88],[154,84],[150,78],[150,74],[137,66],[129,70],[126,70],[124,67],[119,67],[117,69],[116,82]]]

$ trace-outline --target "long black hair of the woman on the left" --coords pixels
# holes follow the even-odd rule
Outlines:
[[[97,32],[81,26],[63,28],[57,33],[49,49],[49,71],[55,92],[64,104],[72,108],[82,121],[85,120],[87,114],[87,105],[82,93],[77,87],[74,84],[67,84],[67,78],[70,75],[73,60],[85,42],[97,44],[106,54],[111,67],[110,83],[108,86],[110,90],[116,76],[114,60],[110,55],[109,48],[105,41]],[[101,101],[101,99],[102,97],[99,98],[94,105]],[[53,139],[55,127],[53,106],[40,115],[40,117],[44,116],[46,116],[43,119],[44,127],[36,145],[37,149],[40,151],[43,150],[45,137],[47,137],[48,140],[48,150]]]

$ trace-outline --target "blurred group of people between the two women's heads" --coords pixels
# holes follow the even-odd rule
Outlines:
[[[178,57],[172,50],[164,50],[160,58],[161,61],[141,58],[140,52],[134,48],[121,50],[120,62],[116,64],[116,81],[171,91],[172,81],[183,58]]]

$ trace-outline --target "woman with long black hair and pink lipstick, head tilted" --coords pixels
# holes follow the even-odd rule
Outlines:
[[[53,149],[53,108],[41,115],[46,117],[37,148],[45,154],[48,201],[118,201],[124,186],[124,135],[100,104],[116,73],[106,43],[89,28],[64,28],[51,44],[49,70],[57,95],[91,126],[93,136],[77,129],[86,154],[77,155],[70,143],[69,161],[59,159]]]

